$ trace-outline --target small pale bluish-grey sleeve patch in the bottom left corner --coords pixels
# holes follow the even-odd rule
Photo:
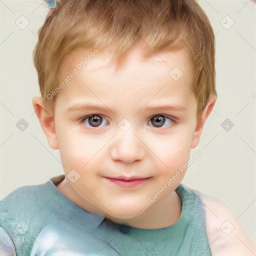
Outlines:
[[[16,256],[14,244],[3,227],[0,226],[0,255]]]

